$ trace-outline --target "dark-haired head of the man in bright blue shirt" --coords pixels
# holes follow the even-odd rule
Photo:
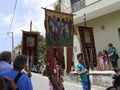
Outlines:
[[[21,71],[27,65],[27,56],[25,55],[18,55],[13,63],[14,69]]]

